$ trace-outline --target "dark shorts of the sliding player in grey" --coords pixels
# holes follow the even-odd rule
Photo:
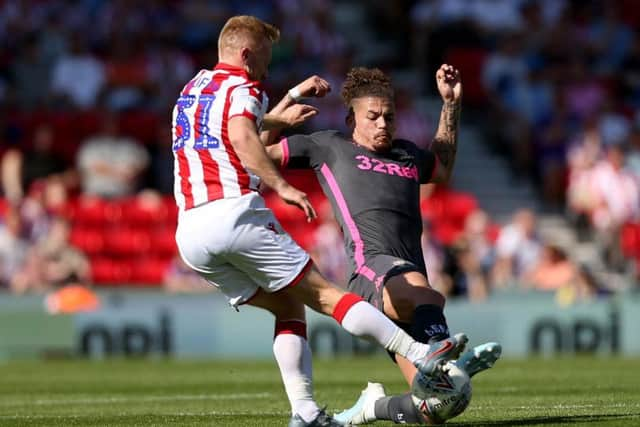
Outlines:
[[[383,311],[382,289],[387,280],[407,271],[417,271],[424,274],[422,268],[414,263],[391,255],[377,255],[367,260],[366,267],[375,273],[369,275],[369,277],[373,276],[373,280],[365,274],[354,273],[349,280],[347,289],[349,292],[360,295],[380,311]]]

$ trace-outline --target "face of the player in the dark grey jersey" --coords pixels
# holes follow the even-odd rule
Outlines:
[[[373,151],[391,148],[395,132],[395,107],[388,98],[369,96],[353,101],[355,142]]]

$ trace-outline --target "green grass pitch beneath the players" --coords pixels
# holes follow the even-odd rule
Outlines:
[[[350,406],[367,380],[405,390],[384,357],[315,361],[317,400]],[[501,360],[452,426],[640,426],[640,360]],[[286,426],[272,361],[0,364],[0,426]],[[389,426],[379,422],[377,425]]]

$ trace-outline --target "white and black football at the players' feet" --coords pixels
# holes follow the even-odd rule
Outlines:
[[[428,422],[442,424],[469,406],[471,379],[455,363],[447,362],[438,377],[416,375],[411,394],[413,404]]]

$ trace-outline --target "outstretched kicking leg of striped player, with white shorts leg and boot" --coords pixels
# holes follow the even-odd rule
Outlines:
[[[233,223],[234,239],[225,258],[266,292],[293,296],[333,316],[351,334],[377,341],[425,374],[439,373],[444,362],[466,343],[464,334],[432,346],[416,342],[362,298],[328,282],[310,264],[309,255],[282,230],[273,212],[264,208],[262,198],[253,196],[247,202]]]

